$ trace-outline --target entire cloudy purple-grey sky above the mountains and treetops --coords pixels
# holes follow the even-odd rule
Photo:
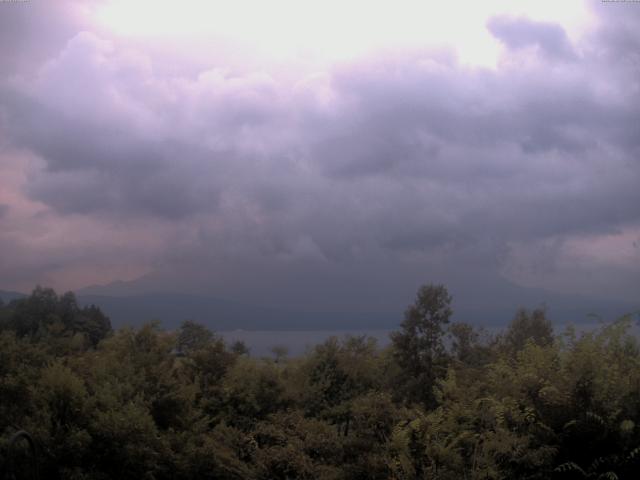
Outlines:
[[[0,289],[637,301],[639,25],[638,2],[0,2]]]

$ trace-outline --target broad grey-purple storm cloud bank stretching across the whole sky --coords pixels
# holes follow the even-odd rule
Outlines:
[[[625,18],[602,22],[572,45],[559,25],[495,17],[488,29],[508,47],[496,69],[425,50],[295,82],[215,58],[179,76],[83,32],[4,82],[0,122],[42,159],[29,199],[62,217],[176,222],[189,239],[165,252],[176,262],[224,258],[245,274],[264,257],[295,264],[264,267],[283,278],[274,285],[310,262],[336,290],[342,266],[361,262],[362,282],[362,265],[396,257],[407,262],[396,276],[417,259],[412,279],[425,266],[495,272],[513,242],[640,223],[638,34]],[[238,253],[244,267],[229,261]]]

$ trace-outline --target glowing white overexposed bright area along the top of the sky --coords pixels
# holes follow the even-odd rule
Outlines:
[[[576,35],[589,19],[576,1],[112,0],[97,20],[122,36],[226,40],[280,61],[444,45],[462,63],[494,66],[500,48],[485,22],[498,13],[553,19]]]

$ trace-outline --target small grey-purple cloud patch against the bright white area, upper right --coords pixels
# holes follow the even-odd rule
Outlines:
[[[569,38],[560,25],[499,16],[491,18],[487,28],[509,48],[537,46],[549,58],[576,59]]]

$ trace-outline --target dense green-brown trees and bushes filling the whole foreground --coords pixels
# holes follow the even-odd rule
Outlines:
[[[555,335],[450,323],[425,286],[391,345],[252,358],[194,322],[112,331],[73,294],[0,305],[0,465],[70,479],[637,479],[640,348],[622,318]],[[34,465],[19,442],[38,446]]]

